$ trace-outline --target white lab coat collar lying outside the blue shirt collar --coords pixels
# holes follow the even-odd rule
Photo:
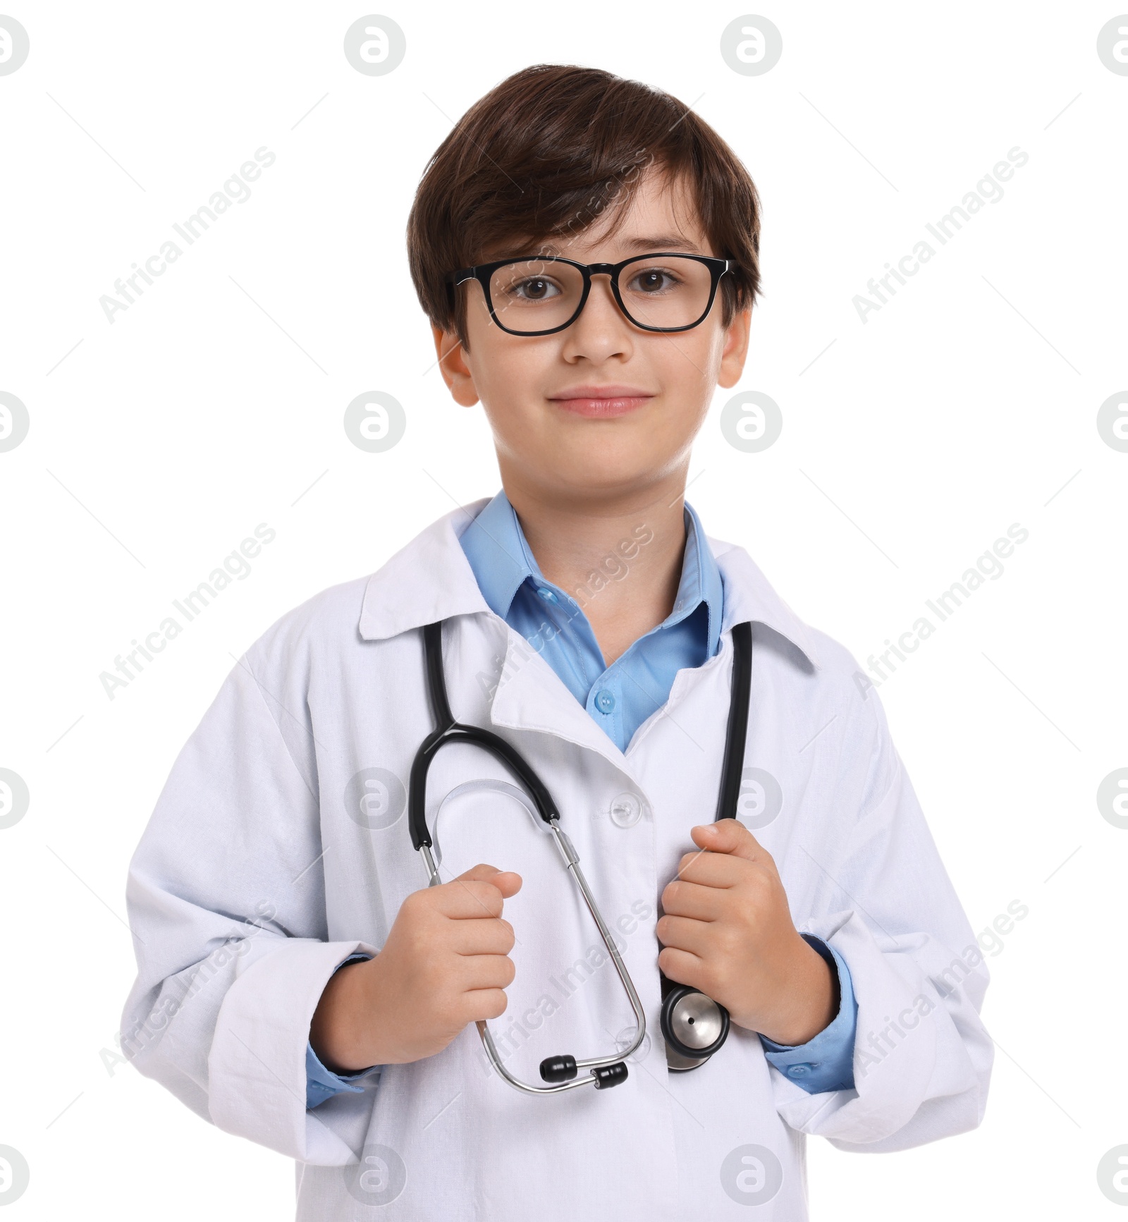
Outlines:
[[[497,497],[494,497],[494,501],[497,501]],[[482,587],[474,577],[469,558],[460,545],[460,536],[466,533],[471,522],[477,521],[478,516],[491,503],[494,502],[483,497],[452,510],[438,522],[433,522],[368,578],[357,626],[362,639],[385,640],[402,632],[419,628],[425,623],[449,620],[458,615],[480,615],[490,611],[500,615],[486,601]],[[512,506],[508,506],[508,499],[506,499],[506,506],[508,512],[513,513]],[[705,535],[697,513],[688,505],[687,510],[689,510],[694,529],[687,536],[686,557],[688,561],[690,556],[688,543],[692,538],[695,547],[694,554],[703,565],[701,595],[698,601],[703,598],[709,601],[710,642],[715,642],[715,632],[725,633],[732,624],[750,620],[753,623],[766,624],[786,637],[793,645],[798,646],[813,666],[819,666],[815,634],[776,594],[748,552],[743,547]],[[513,565],[519,563],[517,558],[519,552],[511,551],[507,555]],[[708,573],[710,566],[701,557],[714,558],[717,580],[723,591],[722,600],[717,600],[716,587]],[[532,560],[532,555],[529,558]],[[683,561],[683,583],[688,567]],[[523,579],[522,577],[521,580]],[[516,593],[521,580],[515,582],[512,593]],[[512,593],[510,602],[512,602]],[[682,595],[683,587],[679,585],[678,600],[682,599]],[[495,596],[493,590],[490,596]],[[695,605],[694,602],[693,606]],[[722,607],[721,622],[716,628],[714,627],[715,606]]]

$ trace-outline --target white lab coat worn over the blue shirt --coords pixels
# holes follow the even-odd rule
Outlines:
[[[796,1222],[807,1217],[807,1134],[885,1151],[979,1124],[992,1059],[979,1019],[986,968],[849,654],[803,624],[743,549],[710,540],[725,582],[720,653],[678,672],[623,754],[486,607],[457,541],[468,521],[441,518],[372,577],[285,615],[185,745],[130,871],[139,975],[122,1031],[137,1068],[211,1123],[297,1160],[301,1222],[374,1209],[683,1222],[748,1217],[748,1205]],[[512,742],[554,793],[621,937],[648,1037],[613,1090],[538,1099],[488,1067],[469,1025],[436,1056],[307,1111],[306,1044],[326,980],[350,953],[376,953],[403,898],[427,885],[403,791],[433,728],[418,629],[435,620],[450,621],[455,716]],[[744,809],[797,927],[849,967],[854,1090],[805,1094],[736,1026],[703,1068],[666,1070],[654,925],[693,848],[689,829],[715,814],[728,629],[741,620],[754,634],[745,765],[782,792],[761,826],[771,810],[754,774]],[[508,780],[479,749],[441,752],[429,821],[480,777]],[[505,906],[517,976],[491,1024],[508,1035],[507,1064],[539,1083],[545,1056],[613,1050],[633,1030],[631,1009],[549,835],[511,798],[474,791],[444,805],[439,833],[444,879],[484,860],[524,880]]]

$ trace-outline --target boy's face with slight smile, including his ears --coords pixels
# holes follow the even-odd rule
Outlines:
[[[681,182],[664,189],[649,170],[613,236],[606,221],[539,246],[539,253],[579,263],[617,263],[650,251],[716,255]],[[523,254],[496,251],[482,262]],[[532,253],[532,251],[529,251]],[[721,324],[721,291],[703,323],[659,334],[620,312],[609,276],[594,276],[579,318],[555,335],[502,331],[482,286],[471,284],[469,351],[435,329],[444,378],[455,400],[485,408],[506,486],[537,486],[561,502],[633,499],[655,485],[679,486],[689,447],[714,389],[733,386],[748,351],[750,310]],[[609,391],[610,387],[610,391]],[[577,389],[610,404],[568,400]],[[609,408],[611,414],[609,414]],[[596,414],[593,414],[596,413]]]

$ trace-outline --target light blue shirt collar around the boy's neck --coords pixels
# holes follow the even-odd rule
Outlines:
[[[526,580],[532,579],[535,587],[551,589],[568,598],[567,590],[560,590],[540,572],[537,557],[529,549],[524,532],[521,529],[517,512],[504,490],[463,530],[458,541],[462,544],[466,558],[478,579],[482,596],[490,610],[501,616],[502,620],[508,615],[517,590]],[[700,518],[687,502],[682,577],[678,583],[677,598],[673,600],[673,610],[664,621],[662,627],[687,618],[701,602],[709,609],[709,639],[705,656],[712,657],[721,637],[723,583]]]

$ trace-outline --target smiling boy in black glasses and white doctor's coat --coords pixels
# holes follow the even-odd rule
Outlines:
[[[423,177],[412,275],[504,491],[248,650],[130,877],[123,1046],[295,1157],[299,1220],[797,1220],[805,1134],[897,1150],[983,1117],[986,970],[877,698],[683,499],[744,365],[758,241],[716,133],[594,70],[502,82]],[[458,873],[436,844],[424,886],[403,816],[440,621],[453,716],[544,778],[638,991],[615,1090],[535,1097],[483,1053],[485,1020],[535,1083],[637,1026],[513,777],[468,743],[427,789]],[[714,822],[742,623],[741,819]],[[692,1070],[667,1068],[662,975],[731,1017]]]

